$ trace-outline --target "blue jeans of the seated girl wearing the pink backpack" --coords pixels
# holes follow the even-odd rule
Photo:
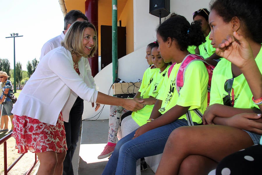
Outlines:
[[[170,133],[180,127],[187,126],[187,120],[176,120],[168,125],[152,129],[141,136],[132,139],[134,132],[122,138],[116,144],[102,175],[136,174],[136,161],[163,153]],[[194,125],[198,125],[194,123]]]

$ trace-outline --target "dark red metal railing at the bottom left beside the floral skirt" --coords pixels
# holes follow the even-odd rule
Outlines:
[[[13,166],[15,166],[15,164],[23,157],[24,154],[21,154],[16,160],[15,162],[7,168],[7,148],[6,148],[6,141],[8,139],[10,139],[10,137],[12,136],[12,132],[10,132],[9,134],[7,134],[6,136],[4,136],[2,139],[0,139],[0,145],[3,143],[4,146],[4,175],[7,175],[7,173],[10,171],[10,169],[13,168]],[[38,162],[38,157],[35,154],[35,162],[33,163],[33,165],[31,166],[31,168],[27,171],[26,175],[30,174],[34,168],[34,166],[36,165],[36,163]]]

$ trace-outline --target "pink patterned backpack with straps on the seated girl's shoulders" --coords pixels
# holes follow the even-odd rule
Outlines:
[[[177,90],[178,95],[179,95],[179,91],[183,87],[184,81],[185,81],[185,70],[187,69],[188,65],[191,62],[193,62],[193,61],[202,61],[205,64],[206,69],[208,71],[208,76],[209,76],[209,79],[208,79],[208,106],[209,106],[211,79],[212,79],[212,74],[213,74],[213,70],[214,70],[215,67],[213,65],[208,64],[206,62],[206,60],[204,60],[201,55],[189,54],[182,61],[181,65],[180,65],[180,67],[178,69],[177,75],[176,75],[176,90]],[[172,64],[169,67],[169,69],[168,69],[168,77],[169,77],[169,75],[171,73],[171,70],[173,69],[174,65],[175,64]],[[193,111],[202,119],[203,114],[198,109],[193,109]],[[189,111],[187,111],[186,116],[187,116],[188,125],[189,126],[190,125],[194,125],[194,123],[192,122],[191,114],[190,114]]]

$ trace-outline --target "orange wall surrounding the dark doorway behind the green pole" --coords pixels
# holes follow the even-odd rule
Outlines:
[[[70,10],[80,10],[85,13],[86,0],[65,0],[67,12]],[[112,25],[112,1],[98,0],[98,55],[101,55],[100,29],[101,25]],[[126,53],[134,51],[134,19],[133,19],[133,0],[121,0],[118,3],[118,21],[121,20],[122,27],[126,27]]]

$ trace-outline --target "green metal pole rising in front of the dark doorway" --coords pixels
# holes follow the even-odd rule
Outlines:
[[[113,83],[117,78],[118,59],[117,59],[117,0],[112,0],[112,64],[113,64]]]

